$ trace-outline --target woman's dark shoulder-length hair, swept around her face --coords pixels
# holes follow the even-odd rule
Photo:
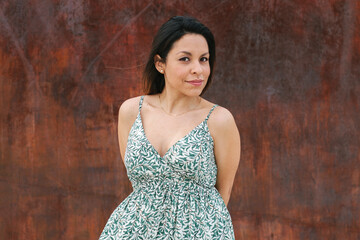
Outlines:
[[[152,49],[143,72],[145,94],[152,95],[161,93],[165,87],[164,75],[159,73],[155,68],[154,57],[158,54],[163,61],[166,61],[166,57],[174,43],[188,33],[202,35],[208,44],[210,55],[210,75],[203,91],[201,92],[201,95],[206,91],[211,83],[215,64],[216,56],[214,36],[210,29],[200,23],[197,19],[192,17],[176,16],[170,18],[166,23],[164,23],[154,37]]]

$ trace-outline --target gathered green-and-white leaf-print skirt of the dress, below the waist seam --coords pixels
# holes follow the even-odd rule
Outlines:
[[[136,188],[111,214],[105,239],[235,239],[215,187],[187,181],[151,181]]]

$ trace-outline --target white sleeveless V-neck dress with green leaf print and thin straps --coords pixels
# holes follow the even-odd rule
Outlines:
[[[235,239],[215,188],[217,166],[207,120],[161,157],[145,136],[140,110],[130,130],[125,166],[133,192],[111,214],[105,239]]]

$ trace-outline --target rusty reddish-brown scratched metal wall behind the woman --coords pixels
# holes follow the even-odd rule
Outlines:
[[[1,239],[97,239],[131,192],[117,111],[172,15],[214,32],[236,239],[360,239],[360,2],[0,1]]]

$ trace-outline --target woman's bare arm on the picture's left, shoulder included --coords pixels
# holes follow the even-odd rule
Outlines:
[[[120,155],[124,162],[127,139],[139,110],[140,97],[130,98],[123,102],[119,109],[118,140]]]

